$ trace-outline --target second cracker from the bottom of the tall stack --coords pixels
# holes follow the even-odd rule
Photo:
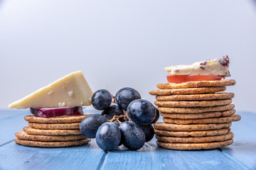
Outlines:
[[[159,142],[170,143],[206,143],[230,140],[234,137],[233,132],[228,132],[225,135],[207,136],[207,137],[165,137],[156,135],[156,140]]]

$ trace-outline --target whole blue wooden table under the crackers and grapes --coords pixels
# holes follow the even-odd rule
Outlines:
[[[120,147],[105,153],[95,140],[80,147],[23,147],[15,132],[28,123],[28,110],[0,110],[0,169],[256,169],[256,114],[238,112],[233,123],[234,143],[204,151],[176,151],[156,146],[156,140],[139,151]]]

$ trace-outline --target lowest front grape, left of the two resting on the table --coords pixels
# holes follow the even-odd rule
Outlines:
[[[115,123],[103,123],[96,133],[97,145],[104,151],[117,148],[121,141],[121,132]]]

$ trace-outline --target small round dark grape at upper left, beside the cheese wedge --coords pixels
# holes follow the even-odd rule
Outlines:
[[[110,94],[110,91],[100,89],[95,91],[95,93],[92,95],[92,106],[97,110],[105,110],[110,106],[111,103],[112,95]]]

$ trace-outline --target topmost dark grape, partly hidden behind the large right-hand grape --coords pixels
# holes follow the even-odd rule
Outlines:
[[[116,103],[121,106],[121,108],[124,109],[124,111],[127,110],[127,106],[132,101],[142,98],[139,94],[139,92],[135,89],[132,89],[130,87],[124,87],[117,91],[117,94],[115,95],[115,101]]]

